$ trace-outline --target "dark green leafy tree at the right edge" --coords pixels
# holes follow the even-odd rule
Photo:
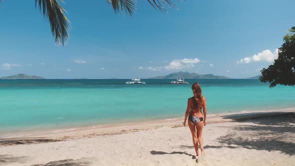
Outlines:
[[[268,68],[261,70],[262,82],[269,82],[269,87],[277,84],[293,86],[295,84],[295,26],[283,37],[284,43],[278,48],[278,57]]]

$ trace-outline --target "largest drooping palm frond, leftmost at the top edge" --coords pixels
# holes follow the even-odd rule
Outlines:
[[[35,7],[38,7],[43,16],[49,20],[55,42],[64,45],[69,38],[68,31],[70,29],[70,21],[64,15],[66,11],[57,0],[35,0]]]

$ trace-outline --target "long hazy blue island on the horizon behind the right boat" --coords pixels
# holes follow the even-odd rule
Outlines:
[[[184,78],[184,79],[231,79],[226,76],[219,76],[213,74],[197,74],[193,72],[173,72],[168,75],[163,76],[155,76],[148,79],[176,79],[176,78]]]

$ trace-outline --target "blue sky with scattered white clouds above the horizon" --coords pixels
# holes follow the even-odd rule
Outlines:
[[[259,74],[294,26],[294,0],[180,0],[167,13],[137,0],[133,16],[106,0],[64,0],[70,38],[58,46],[34,0],[0,3],[0,76],[132,78],[176,71]]]

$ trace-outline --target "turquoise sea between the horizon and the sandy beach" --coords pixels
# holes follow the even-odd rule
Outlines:
[[[184,116],[191,84],[169,79],[0,80],[0,132]],[[295,87],[256,79],[198,79],[208,114],[295,107]]]

